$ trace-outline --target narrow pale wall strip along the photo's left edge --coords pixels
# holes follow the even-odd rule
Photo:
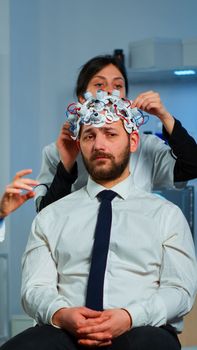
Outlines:
[[[10,90],[9,90],[9,2],[0,0],[0,195],[10,177]],[[6,220],[7,231],[9,231]],[[9,233],[9,232],[8,232]],[[9,237],[0,244],[0,255],[9,252]],[[0,259],[0,344],[9,333],[7,303],[8,271],[6,258]],[[2,282],[3,280],[3,282]]]

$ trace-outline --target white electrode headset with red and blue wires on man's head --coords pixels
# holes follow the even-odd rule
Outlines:
[[[131,108],[131,101],[119,97],[119,91],[113,90],[111,95],[106,91],[98,90],[96,97],[90,92],[84,95],[85,102],[71,103],[67,107],[66,121],[70,124],[72,138],[76,140],[81,125],[93,125],[100,128],[105,123],[123,120],[126,131],[138,131],[144,124],[146,115],[137,108]]]

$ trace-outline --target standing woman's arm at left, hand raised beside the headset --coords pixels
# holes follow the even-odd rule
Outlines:
[[[42,166],[38,176],[40,185],[36,189],[36,210],[71,193],[77,179],[77,142],[71,138],[69,124],[65,123],[57,142],[43,150]]]

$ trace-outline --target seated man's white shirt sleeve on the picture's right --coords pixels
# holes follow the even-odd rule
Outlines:
[[[168,219],[161,219],[165,230],[163,259],[158,290],[151,298],[130,305],[133,327],[176,323],[188,313],[197,291],[197,263],[191,232],[181,210],[169,210]],[[179,330],[179,329],[178,329]]]

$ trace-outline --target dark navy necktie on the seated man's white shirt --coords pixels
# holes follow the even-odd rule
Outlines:
[[[86,295],[86,306],[97,311],[103,310],[104,276],[112,221],[111,201],[115,196],[117,196],[117,193],[111,190],[101,191],[97,195],[101,204],[95,229],[94,246]]]

